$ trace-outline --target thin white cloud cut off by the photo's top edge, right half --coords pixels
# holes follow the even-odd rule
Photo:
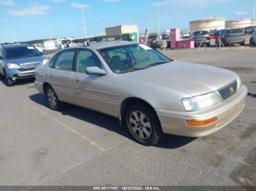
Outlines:
[[[184,1],[179,1],[179,0],[163,0],[163,1],[155,1],[151,3],[151,6],[154,7],[162,7],[162,6],[167,6],[167,5],[181,5],[183,7],[211,7],[212,5],[216,4],[223,4],[227,1],[231,0],[214,0],[214,1],[206,1],[206,0],[184,0]]]

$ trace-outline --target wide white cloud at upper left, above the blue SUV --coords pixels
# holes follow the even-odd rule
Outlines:
[[[33,6],[20,10],[9,10],[12,16],[25,17],[25,16],[37,16],[46,15],[50,10],[48,5],[34,4]]]

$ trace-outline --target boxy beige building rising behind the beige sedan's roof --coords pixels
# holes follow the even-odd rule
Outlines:
[[[138,42],[139,29],[136,25],[121,25],[105,28],[106,36],[122,36],[123,39],[129,36],[132,40]]]

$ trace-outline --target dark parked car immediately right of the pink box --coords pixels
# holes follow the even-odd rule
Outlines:
[[[195,31],[192,35],[192,40],[195,41],[195,47],[203,46],[210,47],[211,36],[209,31]]]

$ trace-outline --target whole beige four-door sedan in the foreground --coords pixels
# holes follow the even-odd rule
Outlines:
[[[67,102],[118,117],[146,145],[164,133],[214,133],[241,113],[247,95],[233,71],[173,61],[135,42],[61,50],[37,67],[34,84],[51,109]]]

